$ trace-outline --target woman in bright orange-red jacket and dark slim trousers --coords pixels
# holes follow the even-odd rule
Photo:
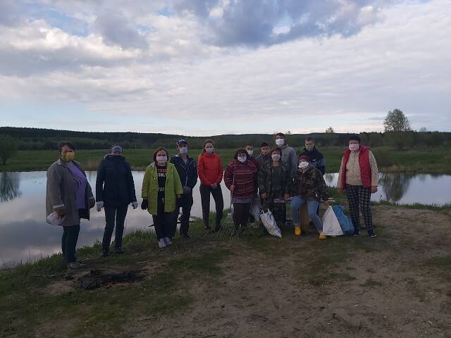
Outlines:
[[[197,160],[197,174],[200,180],[199,191],[205,230],[211,230],[209,223],[211,194],[216,205],[215,231],[217,231],[221,226],[224,208],[223,192],[221,190],[223,163],[221,163],[221,158],[215,154],[214,142],[211,139],[207,139],[204,142],[204,150]]]

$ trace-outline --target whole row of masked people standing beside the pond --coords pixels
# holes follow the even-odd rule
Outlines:
[[[307,204],[309,218],[319,232],[319,239],[326,239],[319,217],[319,204],[328,206],[323,155],[316,149],[312,137],[305,139],[305,147],[299,157],[295,149],[285,142],[285,134],[276,134],[274,142],[272,149],[267,142],[261,144],[261,152],[257,157],[254,157],[251,144],[237,149],[226,170],[223,170],[221,158],[215,153],[214,141],[211,139],[204,142],[197,162],[189,155],[186,139],[178,139],[177,154],[172,157],[163,147],[157,148],[152,163],[144,173],[141,208],[152,215],[159,247],[172,244],[180,209],[180,236],[190,237],[192,192],[198,180],[202,218],[207,231],[221,231],[224,208],[221,182],[224,180],[230,190],[236,230],[247,227],[249,219],[253,221],[249,210],[256,201],[261,203],[264,211],[273,213],[278,225],[286,224],[286,205],[289,201],[295,235],[299,236],[302,232],[299,211],[302,205]],[[360,142],[357,135],[349,138],[340,166],[338,191],[347,195],[354,236],[360,234],[361,211],[368,235],[376,237],[370,198],[371,193],[377,191],[378,168],[369,147]],[[47,216],[56,215],[58,224],[63,226],[64,260],[73,268],[80,265],[75,257],[80,218],[89,220],[89,209],[94,206],[97,206],[97,211],[104,208],[105,213],[102,255],[109,255],[115,228],[114,251],[123,253],[122,237],[128,206],[131,204],[133,209],[139,206],[132,170],[125,161],[123,149],[121,146],[112,146],[99,164],[95,199],[80,163],[73,161],[75,146],[70,142],[62,142],[58,152],[58,160],[47,170],[46,211]],[[214,229],[209,220],[210,195],[216,206]]]

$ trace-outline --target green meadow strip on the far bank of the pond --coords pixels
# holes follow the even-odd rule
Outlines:
[[[223,164],[233,158],[236,149],[216,149],[221,156]],[[297,147],[300,154],[302,147]],[[340,170],[343,148],[338,146],[321,147],[319,149],[326,158],[326,171],[336,173]],[[174,154],[173,149],[169,151]],[[402,173],[451,173],[451,154],[449,149],[413,149],[408,151],[396,151],[385,146],[372,149],[378,161],[379,170],[383,172]],[[85,170],[96,170],[101,158],[106,154],[106,149],[78,150],[76,159],[82,163]],[[153,149],[126,149],[125,158],[135,170],[144,170],[152,161]],[[256,154],[259,150],[256,148]],[[191,149],[190,154],[197,158],[200,149]],[[8,160],[6,165],[0,165],[0,171],[32,171],[47,170],[49,165],[57,158],[56,151],[18,151]]]

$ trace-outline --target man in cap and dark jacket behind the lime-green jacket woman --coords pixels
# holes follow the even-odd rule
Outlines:
[[[175,165],[180,182],[182,182],[183,196],[178,200],[177,207],[174,211],[175,222],[177,222],[182,208],[182,217],[180,218],[180,236],[190,238],[188,230],[190,230],[190,214],[193,204],[192,189],[197,184],[197,165],[194,158],[188,155],[188,142],[185,139],[177,141],[178,154],[171,157],[171,163]]]

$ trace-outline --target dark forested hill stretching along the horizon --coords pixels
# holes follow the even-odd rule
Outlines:
[[[23,127],[0,127],[0,134],[8,134],[18,139],[20,150],[56,149],[58,142],[73,142],[78,149],[109,149],[120,144],[124,149],[154,149],[157,146],[174,147],[175,142],[184,135],[144,133],[144,132],[75,132]],[[287,141],[294,146],[302,146],[307,136],[314,137],[321,146],[345,146],[350,134],[313,133],[288,134]],[[390,144],[390,137],[381,132],[360,133],[362,143],[369,146]],[[246,144],[259,147],[262,142],[273,144],[273,134],[223,134],[209,137],[186,137],[192,149],[201,149],[205,139],[214,139],[216,148],[238,148]],[[406,148],[420,146],[450,146],[451,132],[404,132]]]

